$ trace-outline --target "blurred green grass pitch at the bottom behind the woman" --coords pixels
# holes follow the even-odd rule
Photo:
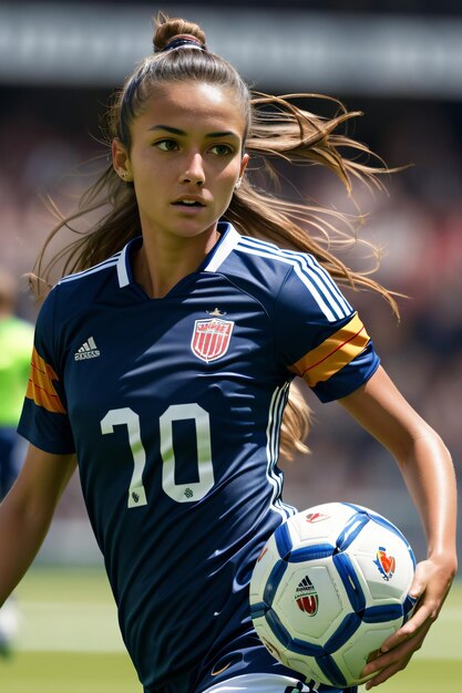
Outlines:
[[[18,649],[0,660],[1,693],[141,693],[100,569],[34,568],[17,590]],[[455,693],[462,680],[462,582],[424,647],[378,691]]]

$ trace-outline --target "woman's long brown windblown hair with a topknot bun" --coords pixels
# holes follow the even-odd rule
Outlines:
[[[377,166],[360,163],[358,154],[370,157],[372,153],[366,145],[339,132],[348,121],[360,115],[358,112],[348,112],[339,101],[328,96],[250,93],[235,68],[206,49],[183,46],[182,50],[165,51],[168,42],[181,34],[189,34],[205,45],[205,34],[197,24],[183,19],[170,19],[163,13],[157,17],[154,53],[140,63],[110,106],[104,131],[106,144],[110,145],[114,137],[119,137],[130,151],[131,124],[143,111],[153,86],[175,81],[206,82],[234,91],[247,123],[246,152],[250,158],[263,162],[259,173],[269,174],[269,183],[277,179],[270,159],[284,159],[329,169],[340,178],[348,193],[351,193],[353,178],[382,187],[377,175],[389,173],[389,169],[380,159]],[[336,114],[332,117],[314,115],[296,105],[301,97],[331,102]],[[350,156],[347,156],[348,151]],[[95,210],[100,211],[101,218],[89,231],[72,228],[73,221]],[[257,187],[246,176],[233,195],[224,219],[233,223],[246,236],[312,254],[336,281],[352,289],[366,288],[378,292],[398,314],[392,294],[369,276],[377,268],[378,260],[378,252],[372,246],[374,266],[369,271],[349,269],[332,252],[336,248],[353,242],[369,246],[367,241],[356,238],[352,220],[347,215],[310,206],[302,200],[283,199],[277,194]],[[44,255],[51,240],[64,227],[75,231],[79,237],[45,262]],[[78,210],[68,217],[60,217],[39,255],[35,277],[50,286],[55,267],[62,266],[62,273],[86,269],[121,250],[141,232],[133,185],[122,182],[111,165],[84,193]],[[40,282],[37,286],[40,287]],[[308,428],[309,408],[301,401],[301,395],[291,395],[281,428],[280,448],[286,457],[291,458],[295,449],[307,449],[302,441]]]

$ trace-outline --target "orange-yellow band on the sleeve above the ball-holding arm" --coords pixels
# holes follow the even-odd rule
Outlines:
[[[314,387],[348,365],[365,350],[369,340],[365,325],[358,313],[355,313],[338,332],[289,366],[289,371],[300,375],[310,387]]]

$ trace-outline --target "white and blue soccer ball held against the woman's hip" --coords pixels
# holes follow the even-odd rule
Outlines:
[[[349,503],[294,515],[264,547],[250,613],[268,651],[307,679],[361,683],[370,653],[410,617],[415,559],[388,519]]]

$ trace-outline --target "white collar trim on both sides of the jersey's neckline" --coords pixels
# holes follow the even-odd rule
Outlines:
[[[212,248],[211,252],[204,258],[197,271],[216,272],[218,267],[225,261],[232,250],[239,242],[239,234],[228,221],[218,221],[218,234],[220,238]],[[117,260],[117,279],[119,287],[123,289],[134,282],[132,266],[130,262],[133,250],[141,248],[143,244],[142,236],[137,236],[130,240],[122,249]]]

